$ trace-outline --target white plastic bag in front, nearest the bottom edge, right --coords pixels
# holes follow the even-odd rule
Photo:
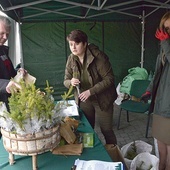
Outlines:
[[[138,154],[131,162],[130,170],[158,170],[159,159],[148,152]]]

